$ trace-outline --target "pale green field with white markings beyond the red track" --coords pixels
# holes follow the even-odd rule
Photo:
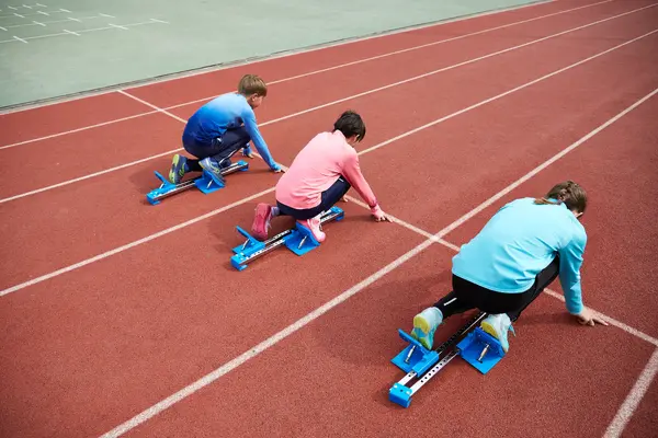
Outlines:
[[[0,2],[0,107],[531,0]]]

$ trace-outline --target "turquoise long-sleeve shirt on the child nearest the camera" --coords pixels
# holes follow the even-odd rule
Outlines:
[[[580,267],[587,233],[561,205],[517,199],[502,207],[453,257],[453,274],[484,288],[521,293],[559,255],[559,279],[567,310],[582,310]]]

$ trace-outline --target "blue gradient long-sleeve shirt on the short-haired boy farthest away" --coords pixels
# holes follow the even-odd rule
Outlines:
[[[260,134],[256,114],[241,94],[223,94],[203,105],[188,120],[183,136],[191,136],[200,142],[208,143],[214,138],[222,137],[227,129],[237,128],[242,124],[263,160],[272,170],[279,170],[268,149],[268,143]],[[249,152],[249,148],[246,148],[246,152]]]

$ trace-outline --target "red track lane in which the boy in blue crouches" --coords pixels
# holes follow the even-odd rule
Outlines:
[[[656,13],[655,11],[653,12]],[[590,38],[581,45],[574,45],[568,39],[556,39],[544,47],[546,51],[507,54],[506,58],[499,59],[494,65],[496,67],[481,64],[472,65],[463,70],[449,72],[441,78],[441,81],[439,78],[428,78],[423,82],[406,84],[405,90],[368,95],[360,100],[360,111],[364,114],[366,120],[368,120],[368,129],[372,134],[368,134],[366,141],[360,149],[363,150],[374,142],[387,140],[404,132],[406,129],[415,128],[430,122],[432,118],[460,111],[468,104],[489,99],[496,95],[496,93],[508,91],[513,87],[510,85],[512,81],[534,80],[542,73],[555,71],[557,66],[563,68],[568,65],[568,61],[578,61],[583,59],[582,57],[585,56],[600,53],[597,50],[614,47],[614,44],[605,39],[595,38],[595,36],[601,35],[601,33],[605,33],[605,35],[619,35],[619,33],[629,33],[634,36],[640,35],[643,31],[650,28],[649,25],[651,23],[647,23],[650,18],[650,15],[633,16],[632,19],[627,19],[629,20],[628,22],[613,21],[606,23],[602,27],[597,28],[598,33],[590,34]],[[633,24],[633,26],[631,27],[629,24]],[[590,30],[590,32],[593,31]],[[523,58],[523,55],[529,58]],[[553,58],[548,55],[566,57],[567,60],[552,60]],[[605,55],[605,57],[613,57],[613,59],[615,53]],[[519,68],[510,69],[510,66],[522,64],[523,59],[532,66],[526,69],[527,71]],[[586,66],[580,66],[578,69],[587,68]],[[491,69],[484,70],[485,67]],[[486,72],[483,73],[483,71]],[[566,71],[560,74],[568,76],[570,73],[571,71]],[[494,79],[485,81],[483,77]],[[542,85],[536,84],[533,87],[538,87],[537,90],[541,90]],[[428,88],[435,90],[436,93],[442,95],[442,99],[436,100],[428,95],[426,92]],[[462,88],[467,89],[468,94],[462,92]],[[522,90],[520,93],[524,91]],[[415,104],[417,107],[423,108],[422,112],[408,112],[404,107],[396,106],[396,102],[410,95],[416,96]],[[507,97],[503,97],[503,101],[504,99]],[[382,108],[388,110],[382,112]],[[333,119],[334,114],[330,110],[325,108],[309,114],[306,117],[307,123],[303,126],[298,126],[296,123],[294,125],[283,123],[266,126],[263,128],[264,135],[270,138],[285,138],[290,141],[286,143],[286,153],[283,150],[279,153],[279,157],[283,158],[284,162],[290,162],[298,150],[299,145],[304,145],[317,131],[326,129],[327,119]],[[458,118],[468,116],[458,116]],[[172,122],[175,120],[172,119]],[[288,123],[292,124],[292,122]],[[405,126],[407,126],[406,129]],[[423,135],[428,135],[427,132]],[[413,137],[398,141],[397,145],[389,146],[386,149],[402,147],[406,154],[415,154],[412,143],[411,146],[407,146],[409,141],[415,141]],[[166,169],[167,164],[164,160],[162,161],[162,166]],[[262,166],[263,164],[260,160],[256,160],[252,163],[254,164],[254,169],[259,169],[256,166]],[[388,165],[392,164],[393,162]],[[269,189],[273,187],[274,181],[277,177],[275,174],[268,172],[259,173],[256,177],[251,177],[252,175],[250,174],[232,175],[230,181],[238,181],[238,178],[240,181],[240,183],[236,183],[235,191],[234,188],[225,189],[212,196],[188,193],[178,198],[169,199],[167,205],[145,209],[144,195],[148,189],[154,187],[154,185],[149,187],[149,184],[156,183],[151,169],[146,168],[146,165],[141,169],[126,169],[116,174],[107,175],[102,180],[86,182],[75,191],[71,187],[67,187],[66,191],[57,191],[48,196],[47,200],[38,205],[39,215],[35,214],[34,208],[36,205],[32,201],[25,201],[25,199],[0,206],[0,209],[5,211],[4,215],[8,215],[12,219],[11,222],[32,223],[31,228],[23,227],[16,230],[7,226],[2,230],[2,234],[7,235],[5,239],[8,242],[15,242],[9,246],[5,245],[4,251],[8,251],[9,247],[21,249],[20,252],[13,250],[11,258],[9,256],[2,258],[7,261],[12,260],[11,264],[5,262],[4,266],[2,266],[8,273],[3,278],[3,287],[16,285],[25,281],[27,278],[34,278],[35,276],[67,266],[86,257],[110,251],[118,245],[175,226],[185,219],[197,217],[215,210],[219,206],[242,199],[245,196]],[[161,169],[161,171],[166,172],[164,169]],[[364,166],[364,171],[370,178],[374,178],[373,182],[388,178],[387,174],[377,175],[375,168],[370,171],[367,166]],[[242,183],[246,178],[249,178],[248,184]],[[132,181],[135,186],[126,186],[126,180]],[[246,188],[247,186],[249,186],[249,189]],[[129,191],[126,191],[126,187]],[[71,200],[72,197],[77,199],[91,199],[98,197],[99,194],[102,194],[103,203],[95,205]],[[115,208],[116,205],[123,206],[121,211]],[[182,205],[185,205],[185,209],[178,207]],[[61,206],[66,206],[66,209],[63,210]],[[167,215],[160,212],[161,207],[167,208]],[[58,218],[59,220],[55,222],[50,218]],[[71,218],[75,218],[75,221]],[[84,226],[81,226],[81,223]],[[115,230],[117,228],[122,229],[121,233],[116,233]],[[29,237],[25,237],[24,233],[29,233]],[[102,235],[103,238],[99,240],[97,235]],[[37,247],[19,244],[19,242],[24,242],[26,239],[36,238],[48,242],[48,246]],[[84,242],[84,244],[76,244],[76,242]],[[89,244],[89,242],[92,243]],[[63,252],[63,249],[67,249],[68,252]],[[18,263],[23,257],[30,263]]]

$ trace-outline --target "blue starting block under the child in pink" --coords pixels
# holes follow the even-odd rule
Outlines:
[[[343,217],[344,211],[342,209],[332,207],[320,217],[320,223],[325,224],[333,220],[340,221]],[[230,264],[238,270],[245,270],[250,262],[272,252],[281,245],[285,245],[288,250],[299,256],[320,245],[313,237],[310,230],[299,223],[296,223],[294,228],[280,232],[264,242],[254,239],[242,228],[236,228],[240,234],[247,238],[243,244],[232,249],[235,255],[230,257]]]

